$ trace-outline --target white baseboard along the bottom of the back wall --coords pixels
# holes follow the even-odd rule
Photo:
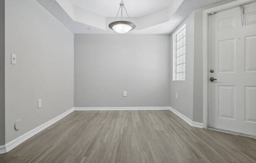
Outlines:
[[[170,110],[170,107],[75,107],[75,110]]]

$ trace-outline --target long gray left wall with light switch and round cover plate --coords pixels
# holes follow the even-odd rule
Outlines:
[[[5,1],[5,143],[73,107],[73,33],[36,0]],[[11,53],[17,55],[10,64]],[[37,100],[42,99],[42,108]],[[21,129],[14,130],[16,120]]]

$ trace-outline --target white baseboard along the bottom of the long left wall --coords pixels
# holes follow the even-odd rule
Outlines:
[[[34,136],[35,134],[37,134],[38,132],[46,129],[47,127],[49,127],[50,125],[52,125],[53,123],[56,123],[57,121],[61,120],[62,118],[64,118],[65,116],[67,116],[68,114],[70,114],[71,112],[74,111],[74,108],[69,109],[68,111],[60,114],[59,116],[47,121],[46,123],[36,127],[33,130],[30,130],[29,132],[23,134],[22,136],[19,136],[18,138],[10,141],[9,143],[5,144],[6,147],[6,151],[5,152],[9,152],[10,150],[12,150],[13,148],[15,148],[16,146],[20,145],[21,143],[23,143],[24,141],[26,141],[27,139],[31,138],[32,136]],[[1,154],[1,153],[0,153]]]

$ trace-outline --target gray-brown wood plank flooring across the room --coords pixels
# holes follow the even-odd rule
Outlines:
[[[75,111],[0,163],[256,163],[256,139],[194,128],[169,110]]]

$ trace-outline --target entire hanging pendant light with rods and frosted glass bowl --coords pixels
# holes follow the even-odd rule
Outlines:
[[[120,18],[121,20],[116,21],[120,9],[121,9],[121,18]],[[123,21],[123,9],[125,10],[130,22],[129,21]],[[110,29],[113,29],[117,33],[126,33],[126,32],[129,32],[129,31],[135,29],[136,25],[131,22],[131,19],[130,19],[129,15],[128,15],[125,7],[124,7],[123,0],[120,3],[120,7],[119,7],[119,10],[117,12],[117,16],[115,17],[115,22],[112,22],[108,25],[108,27],[110,27]]]

